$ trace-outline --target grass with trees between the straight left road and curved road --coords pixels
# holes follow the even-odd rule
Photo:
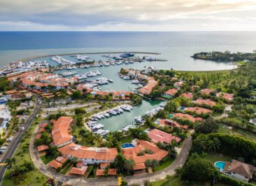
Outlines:
[[[22,138],[22,142],[19,144],[17,151],[13,158],[16,160],[15,166],[22,167],[24,162],[32,162],[29,155],[29,140],[31,139],[31,135],[33,130],[35,130],[36,124],[31,124],[29,130],[26,132],[24,137]],[[38,169],[34,169],[33,171],[27,172],[25,174],[19,174],[14,178],[10,178],[10,170],[6,170],[6,174],[3,177],[2,185],[44,185],[47,181],[47,176],[41,174]]]

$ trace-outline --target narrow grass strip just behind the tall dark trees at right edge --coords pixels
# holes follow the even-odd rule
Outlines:
[[[229,134],[229,135],[239,135],[248,140],[256,140],[256,135],[254,133],[250,133],[250,131],[242,130],[239,128],[234,128],[231,126],[226,126],[223,124],[219,125],[218,133],[225,133],[225,134]]]

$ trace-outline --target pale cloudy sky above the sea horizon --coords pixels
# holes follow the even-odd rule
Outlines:
[[[256,31],[256,0],[0,0],[0,31]]]

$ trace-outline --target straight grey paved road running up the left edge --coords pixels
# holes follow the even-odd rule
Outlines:
[[[8,158],[13,158],[13,155],[15,154],[15,151],[16,151],[17,147],[19,146],[19,143],[22,140],[23,134],[26,133],[26,130],[28,130],[28,128],[29,128],[29,125],[32,123],[33,119],[38,114],[38,110],[40,110],[41,104],[39,103],[40,99],[38,98],[38,96],[36,96],[35,98],[36,98],[35,99],[36,100],[35,109],[33,110],[31,116],[28,117],[28,119],[26,119],[26,122],[24,124],[24,130],[19,130],[16,137],[13,139],[12,144],[10,144],[10,146],[4,153],[3,158],[1,159],[0,163],[5,162],[6,159],[8,159]],[[4,176],[5,172],[6,172],[6,166],[1,166],[0,167],[0,185],[3,180],[3,176]]]

